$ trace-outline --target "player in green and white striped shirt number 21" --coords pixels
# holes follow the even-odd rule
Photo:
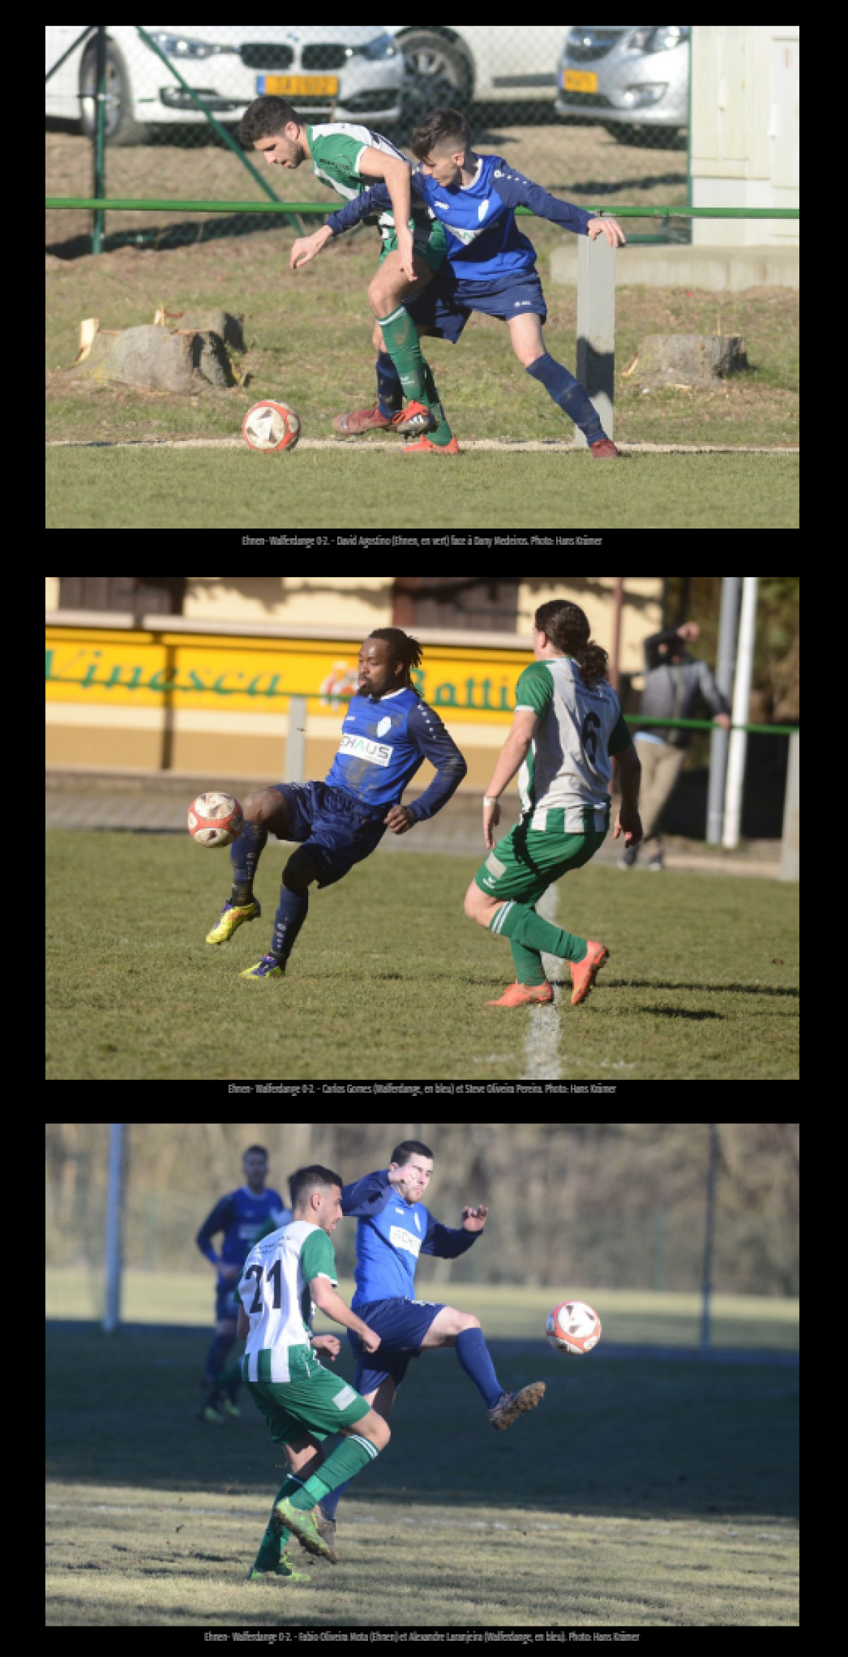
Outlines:
[[[313,1355],[340,1350],[336,1336],[313,1336],[310,1301],[328,1317],[354,1329],[368,1352],[379,1336],[336,1294],[336,1256],[330,1241],[341,1218],[341,1180],[318,1165],[290,1180],[292,1225],[253,1244],[238,1281],[238,1337],[247,1337],[242,1379],[277,1445],[285,1445],[290,1473],[277,1491],[272,1516],[248,1577],[303,1572],[282,1563],[293,1533],[301,1548],[336,1564],[336,1551],[318,1531],[311,1510],[336,1485],[354,1478],[389,1442],[389,1427],[346,1380]],[[341,1433],[321,1460],[316,1448]]]

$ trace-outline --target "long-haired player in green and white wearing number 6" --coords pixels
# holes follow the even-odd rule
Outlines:
[[[606,651],[590,640],[578,605],[553,598],[533,618],[535,663],[515,688],[515,717],[484,799],[485,863],[467,893],[465,915],[510,940],[517,981],[489,1007],[553,1001],[542,951],[570,963],[571,1006],[585,1001],[610,951],[537,915],[535,905],[561,875],[588,863],[610,828],[610,756],[621,777],[613,838],[643,837],[641,766],[621,706],[606,683]],[[520,771],[518,771],[520,767]],[[522,820],[495,847],[499,797],[518,771]]]

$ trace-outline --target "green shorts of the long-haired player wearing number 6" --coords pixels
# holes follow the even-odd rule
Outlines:
[[[571,814],[570,814],[571,815]],[[530,827],[533,822],[545,822],[545,827]],[[510,828],[504,840],[499,840],[485,863],[480,863],[475,882],[480,891],[490,898],[513,898],[517,903],[533,905],[543,891],[568,875],[573,868],[583,868],[590,857],[595,857],[603,845],[610,828],[610,805],[603,830],[595,825],[598,814],[591,805],[583,812],[585,832],[565,832],[565,810],[548,807],[545,812],[528,812],[515,828]]]

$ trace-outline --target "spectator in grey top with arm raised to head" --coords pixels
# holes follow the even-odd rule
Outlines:
[[[697,661],[686,651],[699,635],[697,621],[684,621],[677,628],[664,628],[644,640],[644,689],[643,714],[667,719],[697,719],[697,703],[702,699],[716,716],[716,724],[730,724],[730,708],[722,696],[706,661]],[[636,731],[634,746],[643,767],[639,790],[639,817],[644,837],[638,847],[626,847],[618,860],[619,868],[633,868],[639,852],[646,855],[648,868],[661,870],[662,837],[659,824],[682,771],[691,731],[669,726],[648,726]]]

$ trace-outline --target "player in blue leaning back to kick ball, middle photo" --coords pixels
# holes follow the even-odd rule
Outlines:
[[[234,885],[207,943],[227,943],[262,913],[253,880],[268,833],[300,840],[283,870],[268,953],[242,978],[282,978],[306,920],[310,886],[331,886],[379,845],[447,805],[467,766],[439,714],[412,688],[421,645],[401,628],[376,628],[359,651],[358,694],[348,703],[338,754],[325,782],[277,782],[248,794],[230,848]],[[414,805],[401,794],[424,759],[436,767]]]

